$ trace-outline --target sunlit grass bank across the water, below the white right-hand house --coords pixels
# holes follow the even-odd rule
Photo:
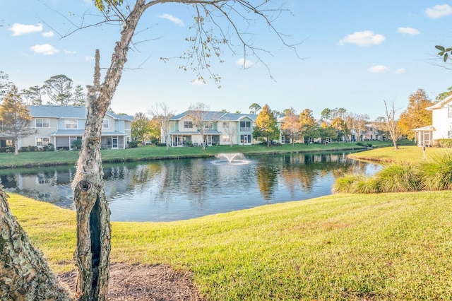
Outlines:
[[[432,157],[448,151],[451,150],[448,148],[426,148],[425,159],[430,160]],[[417,163],[424,160],[424,151],[418,146],[400,146],[398,150],[393,147],[386,147],[354,153],[349,157],[382,163]]]

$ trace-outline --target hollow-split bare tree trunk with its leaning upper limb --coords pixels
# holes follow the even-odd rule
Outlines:
[[[100,158],[102,120],[119,85],[133,33],[146,8],[144,4],[145,0],[137,0],[129,18],[124,20],[121,39],[114,47],[112,63],[102,84],[96,51],[94,85],[88,88],[85,131],[72,182],[77,209],[78,300],[107,300],[112,235]]]

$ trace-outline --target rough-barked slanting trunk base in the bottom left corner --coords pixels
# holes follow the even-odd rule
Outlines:
[[[73,300],[9,210],[0,187],[0,300]]]

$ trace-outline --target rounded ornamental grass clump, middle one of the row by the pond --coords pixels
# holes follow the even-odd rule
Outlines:
[[[394,163],[376,174],[380,192],[420,190],[420,175],[414,165]]]

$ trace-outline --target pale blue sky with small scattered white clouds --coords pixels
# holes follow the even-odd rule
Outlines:
[[[436,56],[435,45],[452,46],[452,4],[430,0],[277,1],[285,13],[275,21],[287,42],[302,42],[298,56],[283,47],[263,25],[251,24],[246,35],[254,46],[270,51],[261,56],[271,76],[256,63],[244,69],[242,54],[227,49],[225,61],[213,64],[222,77],[202,85],[196,73],[182,71],[178,59],[189,47],[193,12],[182,4],[162,4],[145,12],[134,47],[112,100],[114,112],[147,112],[165,102],[175,113],[194,102],[210,110],[249,112],[249,105],[268,104],[272,110],[309,108],[319,117],[328,107],[345,107],[370,119],[384,115],[383,100],[405,110],[419,88],[434,100],[452,86],[452,70]],[[85,14],[85,15],[84,15]],[[107,67],[119,28],[100,25],[71,32],[74,25],[93,22],[98,14],[88,0],[0,1],[0,70],[18,88],[42,85],[50,76],[65,74],[83,86],[93,81],[93,56],[100,49]],[[239,23],[243,25],[243,23]],[[238,49],[239,50],[239,49]],[[451,65],[452,67],[452,65]],[[206,78],[208,76],[206,75]]]

